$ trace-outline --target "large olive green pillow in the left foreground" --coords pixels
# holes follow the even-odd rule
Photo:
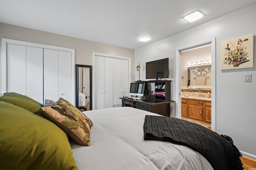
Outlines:
[[[66,134],[51,121],[0,101],[0,169],[77,170]]]

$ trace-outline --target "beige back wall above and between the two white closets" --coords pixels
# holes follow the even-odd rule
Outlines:
[[[87,41],[84,39],[67,37],[64,35],[58,35],[58,34],[49,33],[45,31],[39,31],[36,29],[19,27],[16,25],[10,25],[6,23],[0,23],[0,38],[16,39],[20,41],[28,41],[32,43],[40,43],[40,44],[54,45],[58,47],[75,49],[76,64],[92,65],[93,52],[103,53],[108,55],[117,55],[122,57],[129,57],[131,58],[131,80],[134,80],[134,70],[136,68],[133,68],[134,66],[134,50],[133,49],[126,49],[122,47],[116,47],[113,45]],[[2,41],[0,41],[0,67],[2,66],[1,57],[2,57]],[[2,89],[1,75],[2,73],[0,69],[0,89]]]

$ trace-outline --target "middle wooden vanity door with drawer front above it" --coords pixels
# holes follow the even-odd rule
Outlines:
[[[188,100],[189,117],[203,121],[203,101],[202,100]]]

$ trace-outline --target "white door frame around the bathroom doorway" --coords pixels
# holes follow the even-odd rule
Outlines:
[[[206,39],[204,41],[196,42],[183,47],[175,49],[175,113],[177,118],[181,118],[181,70],[180,70],[180,57],[181,51],[199,47],[211,43],[211,54],[212,54],[212,131],[216,131],[216,37]]]

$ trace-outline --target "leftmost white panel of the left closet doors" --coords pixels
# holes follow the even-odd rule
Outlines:
[[[26,46],[7,44],[7,92],[26,95]]]

